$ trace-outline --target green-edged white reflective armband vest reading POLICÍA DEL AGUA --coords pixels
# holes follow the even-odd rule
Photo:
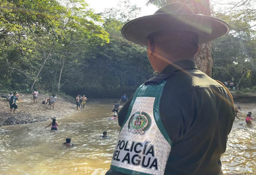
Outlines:
[[[129,175],[164,175],[172,141],[159,115],[165,81],[141,85],[118,135],[110,168]]]

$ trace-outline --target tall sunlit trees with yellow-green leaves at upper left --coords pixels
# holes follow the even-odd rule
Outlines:
[[[65,62],[88,52],[89,45],[109,42],[108,33],[95,24],[103,20],[83,0],[2,0],[0,5],[1,86],[59,92]]]

